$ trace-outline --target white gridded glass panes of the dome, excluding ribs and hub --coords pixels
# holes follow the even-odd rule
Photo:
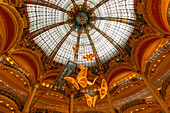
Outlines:
[[[30,1],[30,0],[26,0]],[[37,0],[39,1],[39,0]],[[55,25],[60,22],[68,20],[68,15],[64,11],[48,6],[47,4],[36,4],[37,1],[26,2],[27,12],[29,16],[29,30],[30,33],[36,33],[39,29],[48,29],[40,35],[33,38],[35,43],[42,48],[44,53],[50,57],[54,52],[57,45],[63,37],[69,32],[69,24],[63,24],[54,28],[48,26]],[[49,4],[61,7],[67,11],[70,11],[73,7],[71,0],[44,0]],[[90,8],[95,7],[102,0],[87,0],[87,5]],[[84,0],[75,0],[76,4],[82,4]],[[134,10],[134,0],[109,0],[95,11],[96,17],[113,17],[117,19],[127,19],[131,21],[136,20],[136,14]],[[95,27],[100,29],[103,33],[114,40],[121,48],[124,48],[127,40],[134,30],[134,26],[121,21],[108,21],[108,20],[96,20]],[[82,33],[79,40],[79,53],[77,63],[85,63],[87,67],[94,67],[97,65],[96,59],[87,61],[82,57],[86,54],[93,53],[94,49],[99,56],[101,63],[107,62],[113,58],[119,51],[115,48],[111,42],[108,41],[101,33],[96,29],[91,29],[89,32],[91,41],[87,37],[86,33]],[[62,64],[66,64],[69,60],[74,60],[75,54],[72,50],[72,46],[76,47],[78,33],[71,32],[65,39],[61,46],[55,53],[53,60]],[[94,44],[93,45],[91,44]]]

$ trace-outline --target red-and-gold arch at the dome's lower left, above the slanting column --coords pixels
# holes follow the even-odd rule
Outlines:
[[[18,49],[13,51],[9,57],[24,70],[29,72],[31,81],[35,83],[43,73],[43,65],[40,59],[41,54],[30,49]]]

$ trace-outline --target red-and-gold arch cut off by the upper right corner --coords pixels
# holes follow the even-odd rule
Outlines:
[[[146,22],[163,34],[170,34],[168,4],[170,0],[143,0],[141,10]]]

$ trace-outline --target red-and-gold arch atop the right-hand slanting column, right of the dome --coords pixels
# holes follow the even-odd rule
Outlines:
[[[144,35],[132,43],[131,61],[138,69],[145,71],[146,63],[155,51],[164,46],[169,40],[156,36]]]

